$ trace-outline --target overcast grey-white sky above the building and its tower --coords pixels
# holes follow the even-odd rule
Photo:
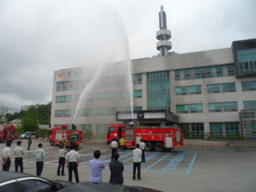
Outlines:
[[[255,0],[0,0],[0,106],[47,104],[53,72],[104,62],[126,28],[131,59],[152,57],[164,3],[171,51],[231,47],[256,38]]]

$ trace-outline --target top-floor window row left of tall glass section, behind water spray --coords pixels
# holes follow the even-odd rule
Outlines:
[[[57,83],[57,92],[63,92],[68,90],[82,90],[85,88],[87,83],[90,83],[91,80],[79,80],[79,81],[66,81]],[[133,84],[139,85],[142,84],[142,74],[133,75]],[[95,88],[102,87],[117,87],[128,85],[128,82],[123,76],[110,76],[104,77],[97,80]]]

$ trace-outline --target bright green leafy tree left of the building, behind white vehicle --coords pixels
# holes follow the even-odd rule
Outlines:
[[[37,107],[32,106],[26,111],[25,116],[22,116],[20,118],[22,132],[37,131],[39,129],[39,122],[37,121],[37,119]]]

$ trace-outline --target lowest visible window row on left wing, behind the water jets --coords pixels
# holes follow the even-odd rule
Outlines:
[[[78,111],[78,117],[90,117],[92,116],[92,109],[80,109]],[[120,111],[131,111],[131,107],[120,107]],[[142,107],[133,107],[133,111],[142,111]],[[96,109],[97,116],[115,116],[116,108],[99,108]],[[55,117],[71,117],[71,110],[56,110]]]

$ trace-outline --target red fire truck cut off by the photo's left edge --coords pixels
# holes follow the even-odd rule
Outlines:
[[[18,140],[19,136],[16,133],[16,128],[13,124],[6,124],[2,128],[0,128],[0,142],[4,141],[15,141]]]

